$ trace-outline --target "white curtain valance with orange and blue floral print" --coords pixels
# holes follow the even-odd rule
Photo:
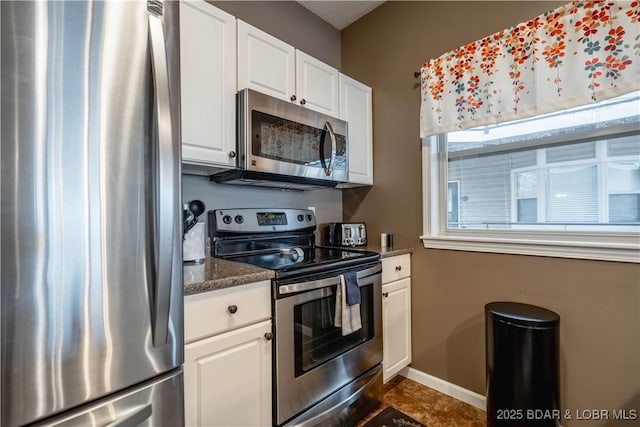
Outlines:
[[[425,63],[420,136],[640,89],[640,1],[573,1]]]

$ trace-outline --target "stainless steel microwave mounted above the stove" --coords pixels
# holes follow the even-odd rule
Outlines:
[[[332,187],[348,177],[347,122],[251,89],[237,94],[238,170],[217,182]]]

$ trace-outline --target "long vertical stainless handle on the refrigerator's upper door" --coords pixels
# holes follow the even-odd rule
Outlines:
[[[162,19],[149,14],[149,35],[151,42],[151,68],[155,89],[158,125],[158,150],[156,170],[156,230],[155,242],[156,274],[152,296],[153,345],[160,347],[167,343],[169,333],[169,305],[174,251],[175,209],[177,206],[173,129],[169,95],[169,75]]]

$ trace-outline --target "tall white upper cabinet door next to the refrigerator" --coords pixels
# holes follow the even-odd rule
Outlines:
[[[182,160],[234,167],[236,20],[204,1],[180,2]]]

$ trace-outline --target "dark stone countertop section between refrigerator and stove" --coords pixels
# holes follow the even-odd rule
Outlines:
[[[183,272],[185,296],[271,280],[275,276],[272,270],[214,257],[206,257],[202,264],[184,264]]]

